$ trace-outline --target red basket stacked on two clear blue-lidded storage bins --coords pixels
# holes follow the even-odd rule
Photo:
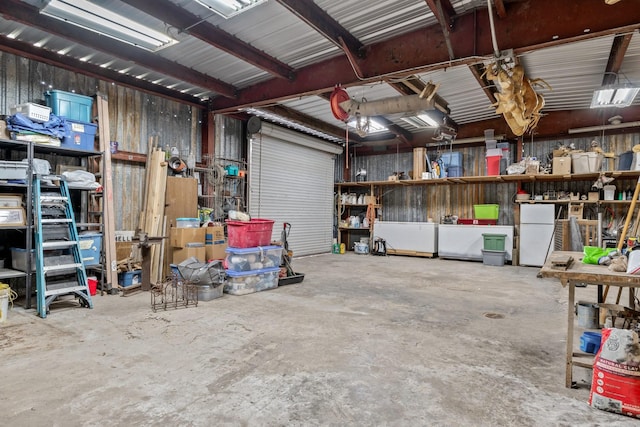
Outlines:
[[[270,245],[272,220],[227,221],[224,291],[245,295],[278,287],[282,247]]]

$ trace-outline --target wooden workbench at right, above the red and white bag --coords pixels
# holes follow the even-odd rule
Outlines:
[[[566,268],[557,266],[554,262],[558,259],[572,257],[573,262]],[[569,301],[567,309],[567,358],[566,358],[566,382],[567,387],[573,384],[573,366],[591,369],[593,367],[593,355],[573,351],[573,325],[575,320],[575,291],[577,284],[615,286],[629,289],[629,307],[634,308],[634,288],[640,287],[640,276],[627,273],[609,271],[607,266],[582,263],[582,252],[553,252],[540,270],[540,276],[551,277],[560,280],[562,286],[568,285]],[[600,294],[600,293],[599,293]],[[603,302],[603,301],[598,301]]]

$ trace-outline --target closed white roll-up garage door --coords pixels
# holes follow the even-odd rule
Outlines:
[[[289,249],[297,255],[331,250],[334,158],[342,148],[263,123],[249,157],[249,213],[275,220],[273,240],[291,224]]]

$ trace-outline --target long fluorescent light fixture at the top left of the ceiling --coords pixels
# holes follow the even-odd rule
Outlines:
[[[150,51],[178,42],[86,0],[50,0],[40,13]]]

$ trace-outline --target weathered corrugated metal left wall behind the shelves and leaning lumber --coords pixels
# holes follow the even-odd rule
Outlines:
[[[0,52],[0,114],[23,102],[44,104],[44,91],[58,89],[109,100],[110,134],[118,149],[146,154],[149,138],[176,147],[183,157],[201,150],[202,112],[188,105],[72,73],[47,64]],[[74,164],[73,159],[52,157],[50,162]],[[142,209],[145,165],[112,162],[116,229],[133,230]]]

